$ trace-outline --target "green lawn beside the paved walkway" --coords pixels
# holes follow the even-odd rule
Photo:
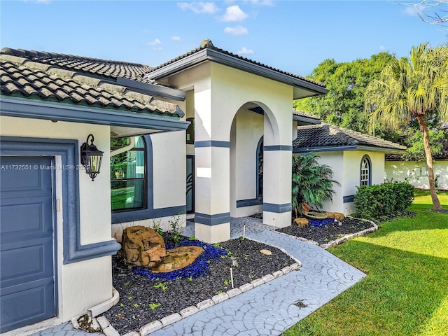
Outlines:
[[[438,192],[444,209],[448,192]],[[416,190],[417,216],[328,251],[367,274],[283,335],[448,335],[448,215],[426,211]]]

